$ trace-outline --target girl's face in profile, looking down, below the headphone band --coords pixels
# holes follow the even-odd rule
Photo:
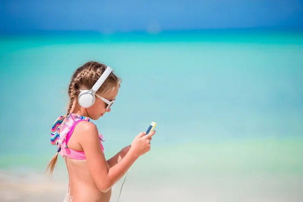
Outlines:
[[[111,92],[105,94],[103,97],[107,99],[109,102],[116,99],[116,96],[119,92],[119,87],[115,87]],[[111,111],[111,107],[107,109],[108,104],[105,103],[102,99],[99,98],[100,96],[97,95],[95,98],[95,103],[88,109],[86,109],[88,116],[92,120],[98,120],[102,117],[106,112]]]

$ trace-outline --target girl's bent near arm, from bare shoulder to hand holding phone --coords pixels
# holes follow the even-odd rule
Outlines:
[[[75,128],[76,134],[73,133],[73,135],[76,136],[85,153],[87,167],[96,186],[103,192],[108,191],[141,155],[150,150],[150,139],[156,132],[153,131],[147,135],[144,132],[139,133],[125,157],[108,169],[96,126],[86,121],[81,121],[78,125],[80,126]]]

